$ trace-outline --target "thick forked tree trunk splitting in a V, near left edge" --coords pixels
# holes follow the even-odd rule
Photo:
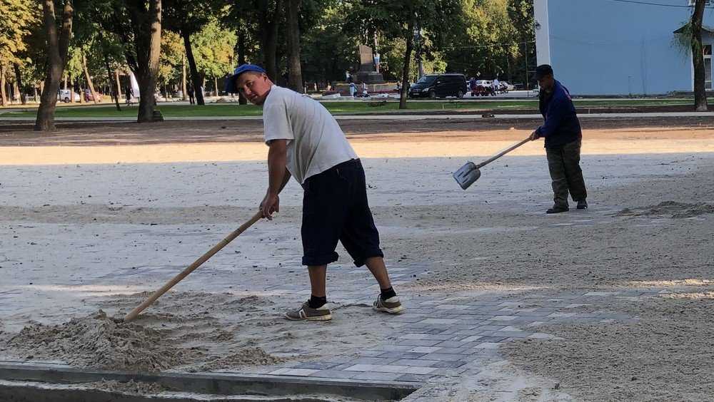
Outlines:
[[[64,65],[67,61],[67,49],[69,48],[69,39],[72,33],[72,16],[74,14],[72,1],[64,1],[62,31],[59,33],[59,37],[57,26],[55,25],[54,0],[42,1],[42,14],[47,41],[48,62],[40,106],[37,109],[35,130],[51,131],[54,130],[57,91],[59,90],[59,81],[62,78],[62,71],[64,71]]]

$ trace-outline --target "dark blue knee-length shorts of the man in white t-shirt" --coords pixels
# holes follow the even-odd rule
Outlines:
[[[338,240],[357,267],[370,257],[384,257],[358,159],[308,177],[303,189],[303,265],[337,261]]]

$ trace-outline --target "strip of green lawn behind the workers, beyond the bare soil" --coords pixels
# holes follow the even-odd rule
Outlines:
[[[692,100],[687,99],[608,99],[608,100],[575,100],[578,108],[586,107],[608,107],[608,106],[646,106],[646,105],[691,105]],[[370,114],[393,112],[399,113],[399,103],[395,100],[383,102],[374,101],[328,101],[323,105],[335,115],[340,114]],[[538,100],[488,100],[488,101],[468,101],[455,102],[450,100],[409,100],[407,103],[409,111],[414,110],[513,110],[528,109],[537,110]],[[114,105],[107,104],[101,106],[66,106],[57,108],[56,117],[66,118],[114,118],[114,117],[136,117],[137,106],[121,107],[121,112],[114,108]],[[255,105],[238,105],[236,103],[209,103],[205,106],[198,105],[171,105],[162,104],[158,107],[164,117],[233,117],[233,116],[253,116],[261,115],[262,109]],[[34,117],[34,110],[23,112],[4,113],[6,117]],[[0,117],[1,118],[1,117]]]

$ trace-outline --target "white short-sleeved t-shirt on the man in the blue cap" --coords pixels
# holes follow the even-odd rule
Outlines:
[[[357,154],[337,120],[318,101],[273,85],[263,103],[266,143],[288,140],[287,168],[301,184]]]

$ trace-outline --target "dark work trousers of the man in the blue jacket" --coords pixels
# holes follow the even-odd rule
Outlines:
[[[553,180],[555,206],[568,206],[568,192],[575,202],[585,200],[588,191],[585,190],[583,170],[580,170],[580,140],[545,148],[545,155],[548,157],[550,180]]]

